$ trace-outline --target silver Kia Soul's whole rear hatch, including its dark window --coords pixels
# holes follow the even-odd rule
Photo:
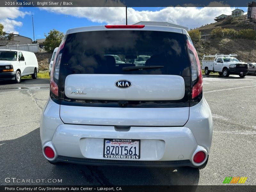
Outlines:
[[[149,26],[66,35],[56,59],[60,74],[53,72],[60,118],[66,124],[183,126],[191,89],[185,42],[181,29]],[[133,63],[139,55],[150,56],[140,67]]]

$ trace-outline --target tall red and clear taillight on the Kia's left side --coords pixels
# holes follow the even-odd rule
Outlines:
[[[65,44],[66,38],[64,37],[60,43],[56,56],[52,63],[51,79],[50,79],[50,92],[55,96],[59,97],[59,77],[60,77],[60,62],[62,57],[62,52],[60,52]]]

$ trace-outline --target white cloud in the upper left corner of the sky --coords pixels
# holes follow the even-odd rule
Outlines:
[[[18,17],[24,18],[25,15],[31,14],[30,12],[22,12],[19,7],[0,7],[0,23],[4,25],[4,31],[7,33],[18,34],[19,32],[15,29],[21,27],[22,22],[16,21]]]

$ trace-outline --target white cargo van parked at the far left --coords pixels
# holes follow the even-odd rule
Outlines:
[[[0,80],[15,80],[20,83],[22,76],[37,78],[38,63],[33,52],[0,50]]]

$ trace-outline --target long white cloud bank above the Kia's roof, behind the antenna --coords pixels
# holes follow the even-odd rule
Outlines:
[[[128,8],[128,24],[139,21],[167,21],[188,28],[200,27],[214,22],[214,18],[230,15],[234,7],[220,7],[221,3],[213,2],[209,6],[219,7],[166,7],[159,11],[136,11]],[[125,7],[40,7],[41,10],[58,14],[87,18],[92,22],[107,24],[125,24]]]

